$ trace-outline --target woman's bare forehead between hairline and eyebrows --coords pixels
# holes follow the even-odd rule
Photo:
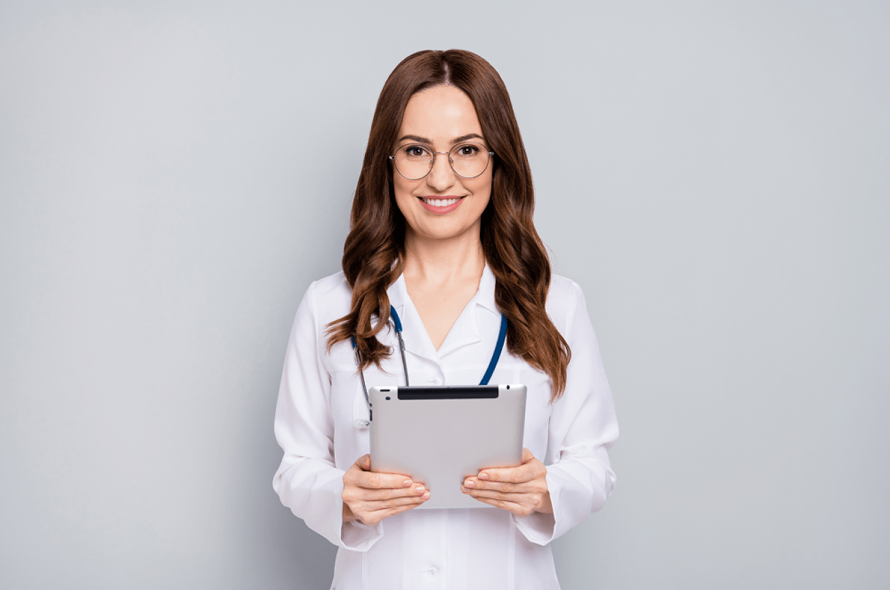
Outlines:
[[[473,101],[455,86],[433,86],[414,94],[399,127],[400,137],[418,135],[433,143],[449,143],[473,133],[482,135]]]

